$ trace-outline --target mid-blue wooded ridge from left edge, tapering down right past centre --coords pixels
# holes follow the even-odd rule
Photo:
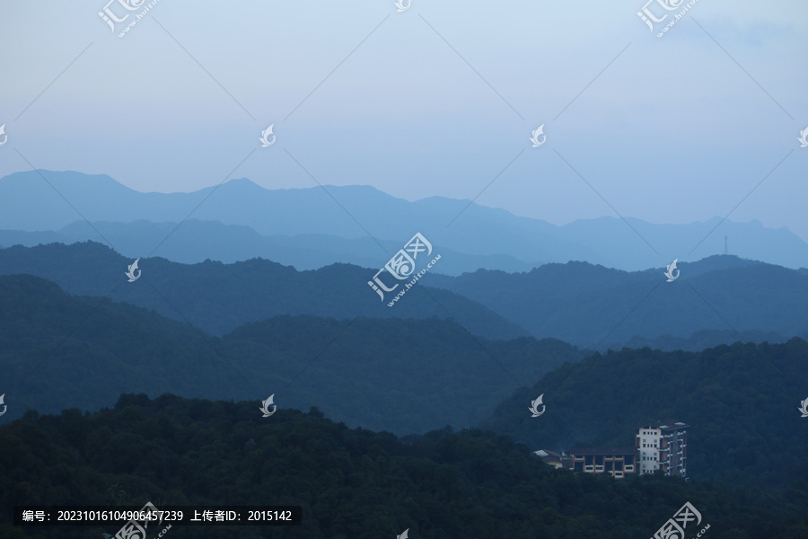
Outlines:
[[[390,255],[382,253],[379,266]],[[448,290],[425,290],[422,283],[388,307],[367,282],[378,271],[350,264],[297,271],[274,261],[251,259],[223,264],[204,261],[180,264],[162,258],[139,261],[141,277],[127,283],[124,272],[133,262],[95,242],[0,249],[0,275],[30,274],[51,280],[76,296],[110,296],[187,321],[223,335],[244,323],[282,314],[324,318],[430,318],[459,321],[487,339],[513,339],[530,333],[487,307]]]

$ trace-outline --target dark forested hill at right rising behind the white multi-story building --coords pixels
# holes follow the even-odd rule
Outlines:
[[[526,407],[544,393],[547,411]],[[700,352],[622,349],[595,353],[521,388],[482,426],[538,449],[633,446],[654,420],[688,423],[694,478],[780,484],[808,475],[808,342],[740,343]],[[540,423],[540,424],[539,424]]]

